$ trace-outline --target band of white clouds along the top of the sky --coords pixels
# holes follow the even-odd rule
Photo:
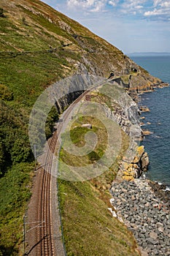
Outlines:
[[[86,14],[107,11],[115,15],[136,15],[140,18],[156,17],[167,21],[170,18],[170,0],[66,0],[66,5],[68,10]]]

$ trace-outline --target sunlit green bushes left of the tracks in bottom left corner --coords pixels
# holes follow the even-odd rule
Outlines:
[[[16,164],[0,179],[0,255],[18,255],[33,168],[34,165],[28,163]]]

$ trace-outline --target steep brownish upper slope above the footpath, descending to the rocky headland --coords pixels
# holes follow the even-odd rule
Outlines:
[[[104,77],[112,73],[122,75],[131,91],[146,91],[161,83],[115,46],[39,0],[2,0],[1,7],[1,58],[34,59],[44,53],[58,59],[55,80],[80,73]]]

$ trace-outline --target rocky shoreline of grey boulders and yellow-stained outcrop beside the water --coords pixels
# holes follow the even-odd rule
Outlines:
[[[160,87],[164,86],[168,84]],[[140,111],[146,112],[149,109],[144,106]],[[144,131],[142,133],[148,135]],[[149,158],[143,146],[137,149],[136,157],[130,165],[122,162],[119,175],[110,188],[112,208],[109,211],[134,233],[142,256],[168,256],[170,191],[166,185],[142,177],[148,165]]]

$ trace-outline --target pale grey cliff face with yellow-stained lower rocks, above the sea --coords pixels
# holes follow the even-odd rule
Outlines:
[[[111,110],[106,103],[103,103],[106,115],[116,121],[130,138],[128,151],[123,157],[117,173],[117,180],[134,181],[134,178],[139,178],[144,171],[147,171],[150,164],[147,152],[144,151],[144,146],[139,146],[139,141],[142,140],[142,129],[139,125],[139,108],[132,100],[127,104],[123,97],[117,103],[115,110]],[[121,105],[123,108],[120,108]],[[134,159],[131,159],[133,155]]]

